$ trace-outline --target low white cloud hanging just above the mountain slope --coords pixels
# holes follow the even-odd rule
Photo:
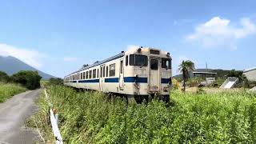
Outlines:
[[[42,58],[42,54],[36,50],[22,49],[5,43],[0,43],[0,55],[13,56],[22,60],[22,62],[26,62],[28,65],[37,68],[42,66],[39,60]]]

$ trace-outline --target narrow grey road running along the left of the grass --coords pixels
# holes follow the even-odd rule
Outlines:
[[[37,110],[34,100],[39,94],[40,90],[30,90],[0,103],[0,144],[29,144],[38,139],[37,132],[26,129],[24,123]]]

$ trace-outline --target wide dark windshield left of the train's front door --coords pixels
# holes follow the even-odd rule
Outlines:
[[[130,66],[147,66],[147,56],[130,54]]]

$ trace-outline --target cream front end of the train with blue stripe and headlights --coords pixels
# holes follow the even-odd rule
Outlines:
[[[172,75],[170,53],[142,47],[128,50],[124,74],[124,90],[133,93],[137,102],[142,102],[144,98],[147,100],[149,95],[169,101]]]

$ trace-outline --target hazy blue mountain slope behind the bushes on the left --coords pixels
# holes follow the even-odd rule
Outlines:
[[[55,78],[54,76],[50,74],[46,74],[40,70],[37,70],[34,67],[26,64],[25,62],[22,62],[18,58],[14,58],[12,56],[8,56],[8,57],[0,56],[0,70],[5,71],[9,75],[15,74],[20,70],[33,70],[33,71],[38,71],[38,74],[44,80],[47,80],[49,78]]]

